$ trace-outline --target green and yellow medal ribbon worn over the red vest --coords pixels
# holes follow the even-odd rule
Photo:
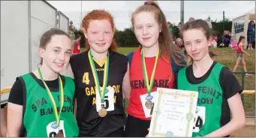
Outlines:
[[[142,67],[143,67],[143,75],[144,75],[144,81],[145,81],[145,84],[146,84],[146,91],[148,92],[148,94],[150,95],[151,93],[151,90],[152,90],[152,87],[153,87],[153,84],[154,84],[154,78],[155,78],[155,69],[156,69],[156,64],[158,63],[158,57],[159,57],[159,49],[158,51],[156,52],[156,56],[155,56],[155,65],[154,65],[154,68],[152,70],[152,75],[151,75],[151,78],[150,78],[150,82],[149,82],[149,78],[148,78],[148,74],[147,74],[147,71],[146,71],[146,62],[145,62],[145,57],[144,57],[144,52],[143,52],[143,48],[142,48],[142,51],[141,51],[141,60],[142,60]],[[150,84],[149,84],[150,83]]]

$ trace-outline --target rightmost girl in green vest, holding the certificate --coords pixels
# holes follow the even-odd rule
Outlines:
[[[177,84],[179,90],[198,92],[192,137],[227,137],[245,126],[242,87],[229,69],[209,56],[209,36],[209,25],[202,19],[182,25],[192,63],[179,70]]]

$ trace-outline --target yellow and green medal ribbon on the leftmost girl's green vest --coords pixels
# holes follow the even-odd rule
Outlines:
[[[44,79],[43,79],[42,74],[41,74],[41,70],[39,68],[37,69],[37,73],[40,76],[41,81],[43,82],[44,87],[46,88],[46,90],[48,92],[48,95],[50,97],[50,101],[52,101],[53,109],[54,109],[54,113],[55,113],[55,117],[56,117],[56,122],[57,122],[57,125],[59,126],[59,123],[60,123],[59,116],[62,113],[62,107],[63,107],[63,103],[64,103],[62,78],[59,75],[59,91],[60,91],[60,94],[61,94],[61,100],[60,100],[61,108],[59,110],[59,115],[58,115],[58,111],[57,111],[57,107],[56,107],[56,102],[55,102],[55,100],[53,98],[52,93],[50,92],[49,88],[47,87],[47,84],[44,82]]]

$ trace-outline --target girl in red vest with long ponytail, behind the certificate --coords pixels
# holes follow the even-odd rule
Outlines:
[[[146,137],[156,88],[175,88],[176,73],[186,63],[172,43],[164,13],[155,1],[137,7],[131,22],[142,47],[128,54],[131,85],[124,90],[129,97],[125,137]]]

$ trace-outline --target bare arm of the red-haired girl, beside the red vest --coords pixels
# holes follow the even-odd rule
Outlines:
[[[122,92],[125,95],[126,99],[130,98],[130,94],[131,94],[131,84],[130,84],[130,67],[129,67],[129,63],[127,66],[127,72],[125,73],[125,77],[122,81]]]

